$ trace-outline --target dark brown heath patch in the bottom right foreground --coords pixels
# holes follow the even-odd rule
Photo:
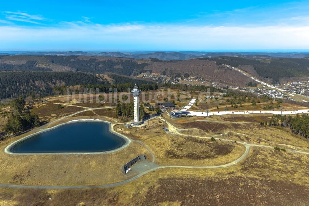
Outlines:
[[[259,178],[161,178],[143,205],[308,205],[309,187]]]

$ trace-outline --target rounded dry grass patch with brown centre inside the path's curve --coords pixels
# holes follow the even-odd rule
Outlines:
[[[241,144],[212,142],[210,139],[158,135],[143,141],[155,154],[159,165],[212,166],[238,159],[245,147]]]

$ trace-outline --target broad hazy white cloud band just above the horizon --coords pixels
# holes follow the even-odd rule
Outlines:
[[[22,46],[22,47],[21,47]],[[0,50],[308,49],[309,26],[103,25],[0,26]]]

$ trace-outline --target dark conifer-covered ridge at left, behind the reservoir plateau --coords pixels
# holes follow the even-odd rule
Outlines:
[[[127,91],[136,83],[142,90],[157,89],[158,85],[151,80],[133,79],[110,74],[113,84],[103,75],[84,72],[46,72],[46,71],[2,71],[0,72],[0,100],[14,98],[19,95],[46,97],[49,95],[64,95],[66,88],[82,92],[83,88],[99,88],[100,92],[108,92],[109,88]],[[95,90],[94,90],[95,91]]]

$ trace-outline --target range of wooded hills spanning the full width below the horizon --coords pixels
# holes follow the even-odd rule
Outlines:
[[[155,58],[135,60],[119,57],[90,56],[0,56],[0,71],[72,71],[92,74],[138,76],[156,73],[179,77],[184,74],[198,79],[231,86],[243,86],[252,79],[224,65],[239,67],[268,83],[286,83],[299,76],[309,76],[309,59],[270,58],[246,59],[239,57],[196,58],[163,61]],[[118,84],[118,80],[114,79]]]

